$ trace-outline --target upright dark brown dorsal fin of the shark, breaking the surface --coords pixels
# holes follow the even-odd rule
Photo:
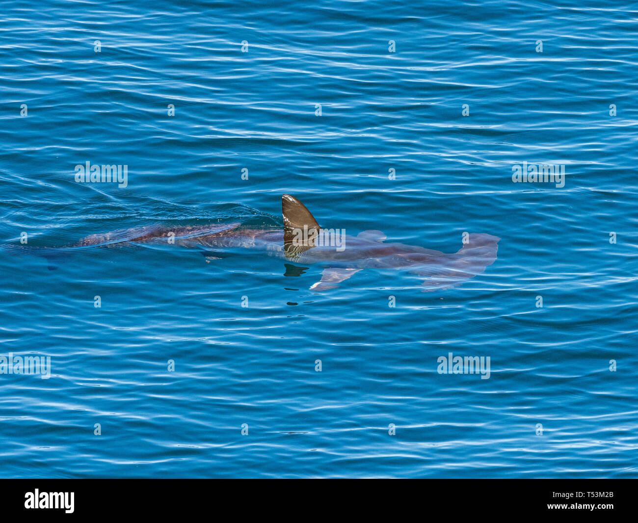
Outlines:
[[[306,206],[290,194],[281,197],[283,215],[283,243],[286,255],[296,258],[315,246],[319,224]]]

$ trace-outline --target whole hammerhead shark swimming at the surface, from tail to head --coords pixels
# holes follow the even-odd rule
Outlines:
[[[249,228],[241,223],[191,227],[151,225],[93,234],[66,247],[27,249],[32,254],[46,257],[50,262],[74,251],[85,252],[87,248],[166,243],[169,238],[175,245],[199,248],[210,260],[232,255],[235,250],[250,249],[290,262],[285,264],[286,276],[300,276],[308,269],[305,265],[320,264],[323,266],[322,277],[310,287],[313,291],[334,289],[362,269],[403,268],[424,278],[421,285],[423,291],[449,289],[479,275],[496,261],[500,238],[490,234],[468,234],[463,248],[454,254],[444,254],[417,245],[386,242],[386,236],[381,231],[363,231],[357,236],[343,236],[338,238],[338,245],[341,246],[335,246],[333,242],[319,239],[325,230],[319,227],[302,202],[285,194],[281,203],[283,229]],[[49,268],[56,267],[50,263]]]

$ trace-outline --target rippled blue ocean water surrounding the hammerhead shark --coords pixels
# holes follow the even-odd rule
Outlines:
[[[391,269],[314,292],[314,266],[168,244],[56,270],[5,249],[0,356],[49,357],[50,377],[0,374],[3,477],[637,476],[635,3],[2,17],[3,246],[281,224],[283,193],[352,234],[501,238],[436,292]],[[85,162],[126,165],[126,186],[78,183]],[[523,162],[564,186],[514,183]],[[438,372],[450,352],[489,356],[489,379]]]

